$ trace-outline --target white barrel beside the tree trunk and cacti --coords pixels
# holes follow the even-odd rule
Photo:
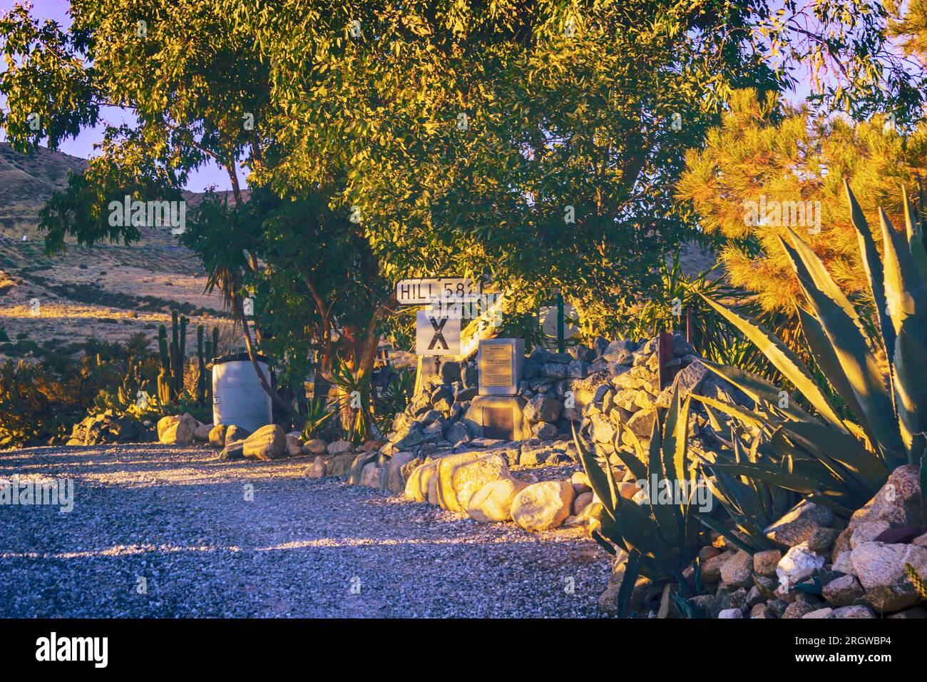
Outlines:
[[[271,385],[264,358],[258,367]],[[212,361],[212,423],[240,426],[252,433],[273,420],[271,396],[260,387],[248,354],[226,355]]]

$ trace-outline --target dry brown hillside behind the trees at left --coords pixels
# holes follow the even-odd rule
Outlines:
[[[33,359],[42,349],[67,352],[90,338],[123,341],[138,331],[155,338],[173,307],[191,320],[188,343],[196,341],[197,323],[218,323],[228,327],[222,337],[231,344],[222,301],[203,293],[206,273],[170,229],[143,228],[132,246],[71,244],[62,254],[44,254],[39,211],[68,174],[85,166],[46,148],[27,155],[0,143],[0,362]],[[38,315],[31,315],[33,300]]]

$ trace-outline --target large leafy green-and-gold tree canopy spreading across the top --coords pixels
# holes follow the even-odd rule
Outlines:
[[[854,7],[870,4],[816,3],[818,40],[793,45],[801,18],[772,25],[766,2],[74,0],[68,30],[17,6],[0,19],[0,125],[18,148],[54,148],[106,106],[134,114],[50,203],[50,249],[132,241],[109,201],[175,196],[218,164],[232,199],[210,200],[188,243],[252,361],[242,300],[263,287],[258,344],[261,329],[300,353],[314,337],[324,371],[337,355],[363,384],[399,277],[492,277],[525,308],[563,290],[607,328],[689,234],[671,188],[735,88],[778,91],[795,64],[830,60],[834,101],[884,106],[884,83],[911,106],[884,13]],[[790,49],[774,69],[777,41]],[[248,208],[241,167],[279,202]]]

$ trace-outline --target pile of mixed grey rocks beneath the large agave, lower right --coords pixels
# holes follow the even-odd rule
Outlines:
[[[714,535],[699,553],[704,594],[692,607],[711,618],[925,618],[927,608],[906,566],[927,576],[927,524],[919,472],[896,469],[846,524],[803,501],[764,529],[781,548],[749,554]],[[624,560],[613,564],[603,611],[616,611]],[[683,573],[692,577],[692,568]],[[632,608],[679,617],[669,595],[679,585],[635,584]]]

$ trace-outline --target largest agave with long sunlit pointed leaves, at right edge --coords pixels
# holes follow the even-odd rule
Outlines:
[[[880,260],[857,200],[845,182],[844,188],[869,274],[875,307],[872,324],[857,313],[815,252],[792,230],[792,244],[781,239],[781,246],[808,303],[808,309],[797,307],[808,350],[852,418],[840,416],[814,375],[779,338],[707,298],[756,343],[815,414],[795,405],[767,380],[711,363],[708,367],[749,395],[756,408],[696,397],[768,444],[768,457],[717,462],[714,470],[781,486],[849,515],[879,490],[895,467],[922,462],[927,444],[927,255],[907,193],[907,241],[880,210],[884,253]],[[925,475],[921,466],[921,481],[927,483]]]

